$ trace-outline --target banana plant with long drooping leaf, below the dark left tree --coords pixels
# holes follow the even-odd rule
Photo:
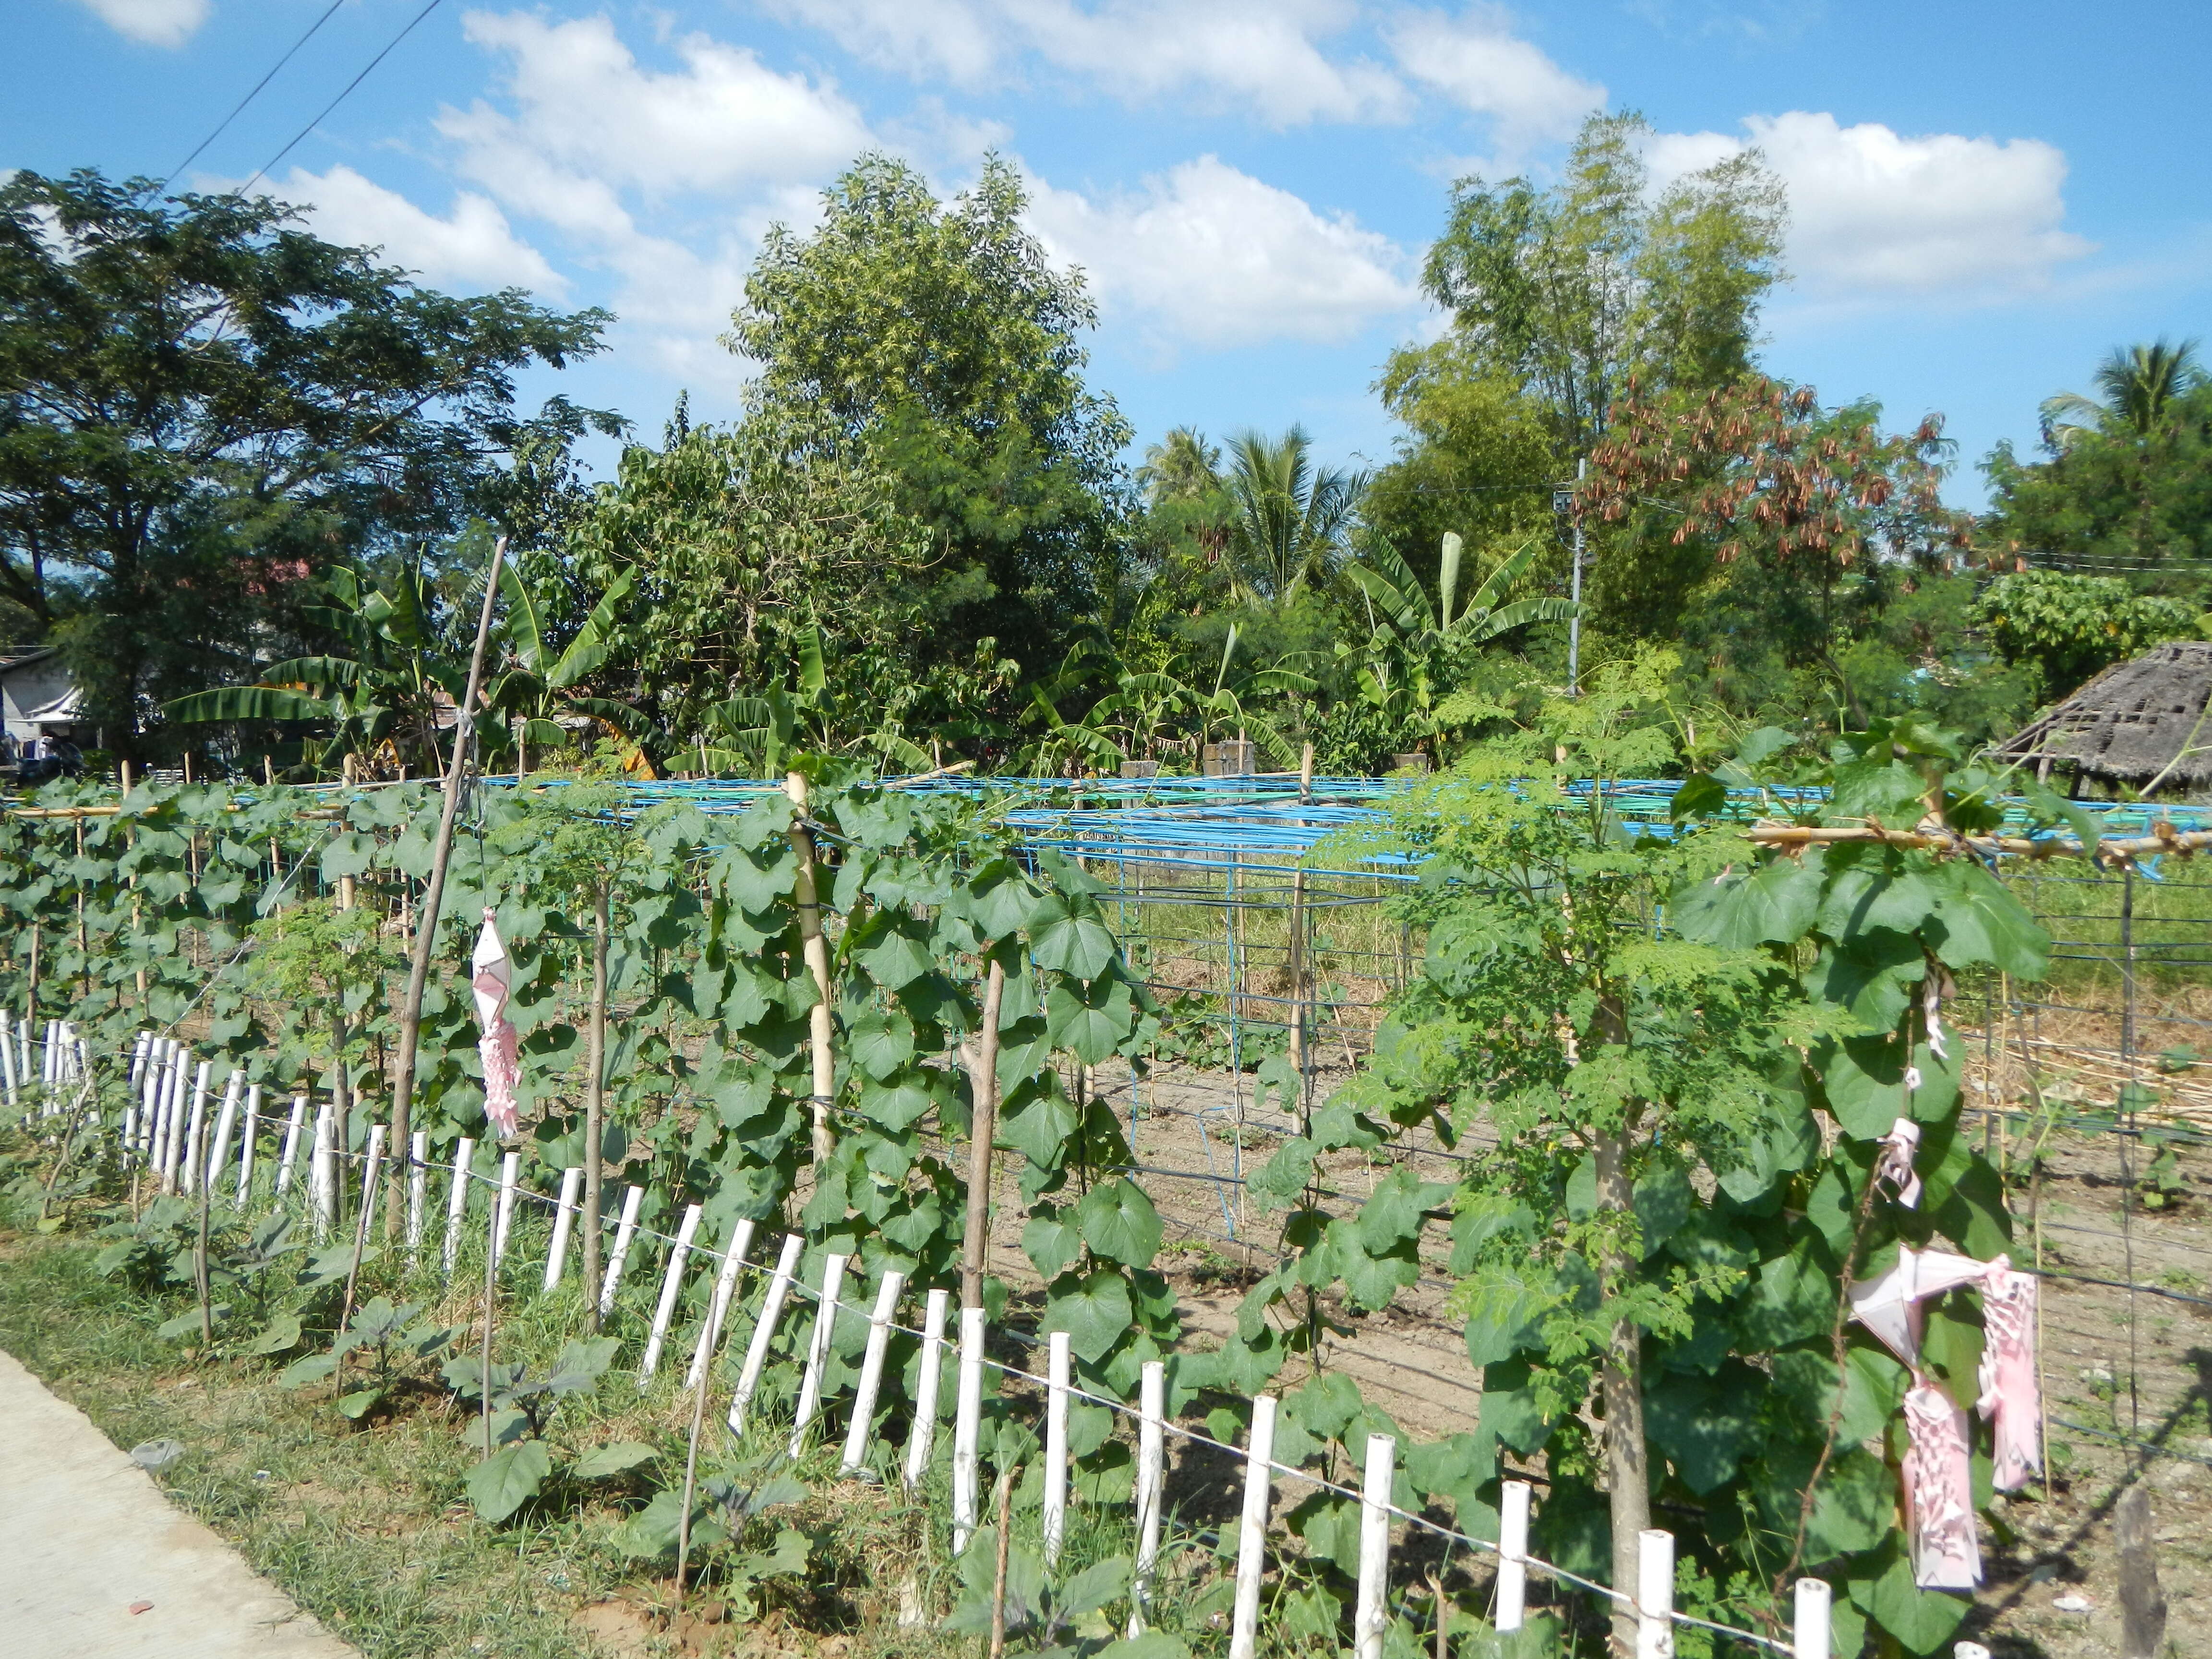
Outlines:
[[[219,686],[164,706],[173,721],[330,721],[321,765],[363,754],[380,770],[438,770],[438,730],[451,723],[460,666],[445,659],[429,622],[429,584],[400,571],[389,591],[336,568],[323,580],[334,604],[301,615],[336,635],[349,655],[288,657],[252,686]]]

